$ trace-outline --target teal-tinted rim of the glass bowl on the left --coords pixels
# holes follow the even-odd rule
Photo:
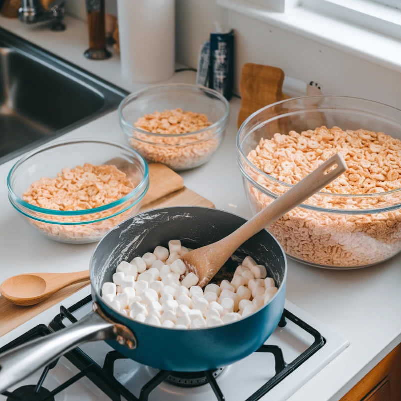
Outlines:
[[[111,145],[115,147],[119,147],[123,150],[126,150],[133,154],[133,156],[142,164],[144,173],[143,177],[140,181],[140,183],[127,195],[124,197],[117,199],[111,203],[108,203],[106,205],[102,205],[99,207],[95,207],[92,209],[85,209],[85,210],[54,210],[54,209],[46,209],[42,208],[39,206],[32,205],[28,202],[25,202],[23,199],[21,199],[12,189],[11,185],[11,177],[15,170],[20,167],[26,160],[31,158],[32,156],[36,155],[37,153],[40,153],[42,151],[50,150],[55,147],[60,147],[64,145],[71,145],[75,143],[101,143],[104,145]],[[8,173],[7,176],[7,187],[8,187],[8,194],[11,197],[11,199],[18,205],[25,207],[28,210],[38,212],[38,213],[43,213],[43,214],[49,214],[49,215],[56,215],[56,216],[81,216],[81,215],[86,215],[86,214],[92,214],[92,213],[98,213],[102,212],[104,210],[112,209],[115,206],[119,206],[123,204],[124,202],[128,201],[129,199],[133,198],[134,196],[139,194],[139,198],[136,200],[135,204],[143,198],[145,193],[147,192],[149,188],[149,168],[146,160],[134,149],[130,148],[129,146],[120,144],[118,142],[113,142],[113,141],[108,141],[108,140],[103,140],[103,139],[92,139],[92,138],[81,138],[81,139],[67,139],[63,141],[57,141],[53,142],[51,144],[46,144],[43,146],[40,146],[36,148],[35,150],[27,153],[25,156],[20,158],[11,168],[11,170]],[[13,203],[13,202],[11,202]],[[133,206],[133,205],[132,205]],[[88,221],[86,223],[90,223],[91,221]]]

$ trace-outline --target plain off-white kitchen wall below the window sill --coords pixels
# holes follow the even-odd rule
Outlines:
[[[128,1],[128,0],[126,0]],[[85,2],[67,0],[67,9],[86,18]],[[116,13],[116,0],[106,0]],[[401,74],[302,36],[228,11],[215,0],[176,0],[176,60],[196,67],[200,44],[213,21],[235,30],[235,91],[246,62],[280,67],[296,80],[318,82],[324,94],[363,97],[401,108]]]

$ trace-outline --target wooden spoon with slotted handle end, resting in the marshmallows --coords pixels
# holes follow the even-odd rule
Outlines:
[[[335,165],[337,166],[334,169],[328,171]],[[343,156],[336,153],[232,234],[213,244],[194,249],[180,259],[199,277],[198,286],[205,286],[241,244],[324,188],[346,170],[347,165]]]

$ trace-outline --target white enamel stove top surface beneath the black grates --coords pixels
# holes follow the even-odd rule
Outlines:
[[[42,312],[17,329],[1,337],[0,348],[40,323],[45,323],[47,325],[55,315],[59,313],[60,305],[70,307],[89,294],[90,287],[86,287],[63,300],[60,304]],[[260,400],[263,401],[286,400],[349,345],[349,342],[342,336],[308,315],[290,301],[286,300],[285,308],[316,329],[325,339],[325,344],[273,387],[267,394],[262,396]],[[90,310],[91,304],[88,303],[75,311],[73,315],[79,319],[89,313]],[[67,322],[67,319],[64,319],[63,323],[65,325],[70,324]],[[311,334],[287,319],[287,324],[283,328],[277,327],[265,344],[279,346],[283,351],[285,362],[291,363],[307,350],[313,342],[314,337]],[[87,343],[81,346],[80,349],[100,366],[103,366],[106,354],[109,351],[113,351],[113,349],[103,341]],[[247,358],[224,368],[222,373],[216,378],[216,381],[226,401],[245,401],[275,375],[274,368],[275,359],[271,353],[253,353]],[[43,386],[51,391],[78,372],[79,370],[67,360],[67,358],[62,357],[56,367],[49,371],[43,382]],[[14,388],[9,389],[9,391],[12,392],[15,388],[19,388],[23,385],[36,384],[41,373],[42,370],[36,372],[36,374],[30,376]],[[121,384],[136,397],[139,397],[142,386],[151,380],[157,374],[157,371],[130,359],[117,359],[114,363],[114,374]],[[5,400],[6,397],[0,395],[0,401]],[[88,378],[83,377],[57,394],[55,400],[97,401],[112,399],[103,393],[102,390]],[[127,399],[122,397],[121,400]],[[209,384],[198,387],[179,387],[167,382],[162,382],[149,396],[149,401],[181,400],[214,401],[217,399]]]

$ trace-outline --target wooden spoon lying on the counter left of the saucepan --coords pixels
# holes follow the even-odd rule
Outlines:
[[[12,276],[0,285],[1,295],[16,305],[35,305],[74,283],[89,280],[89,270],[74,273],[26,273]]]

